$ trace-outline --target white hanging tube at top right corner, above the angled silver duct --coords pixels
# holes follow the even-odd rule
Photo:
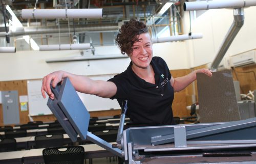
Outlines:
[[[223,8],[243,8],[256,6],[255,0],[215,0],[215,1],[195,1],[185,2],[183,5],[184,11],[191,10],[208,10],[208,9],[223,9]]]

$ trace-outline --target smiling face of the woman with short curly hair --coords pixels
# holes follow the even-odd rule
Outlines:
[[[139,35],[139,41],[133,44],[130,59],[133,65],[142,69],[148,68],[153,57],[152,42],[150,34]]]

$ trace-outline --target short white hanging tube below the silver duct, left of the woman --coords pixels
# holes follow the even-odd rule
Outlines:
[[[74,49],[90,49],[90,43],[83,44],[55,44],[55,45],[39,45],[39,51],[48,50],[74,50]]]

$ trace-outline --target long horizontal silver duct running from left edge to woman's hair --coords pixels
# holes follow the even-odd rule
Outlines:
[[[79,32],[106,32],[106,31],[118,31],[118,23],[108,24],[93,24],[93,25],[76,25],[76,33]],[[17,29],[15,32],[10,32],[11,37],[23,36],[23,35],[36,35],[36,34],[55,34],[55,33],[69,33],[72,32],[72,28],[67,25],[58,29],[58,26],[30,26]],[[6,32],[0,32],[0,37],[5,37]]]

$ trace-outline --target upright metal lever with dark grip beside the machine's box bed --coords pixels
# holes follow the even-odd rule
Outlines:
[[[117,133],[117,139],[116,139],[117,147],[119,149],[122,148],[121,139],[122,139],[122,136],[123,136],[123,125],[124,125],[125,115],[126,115],[126,112],[127,112],[127,102],[128,102],[127,100],[124,100],[123,103],[122,103],[121,118],[120,118],[118,133]]]

